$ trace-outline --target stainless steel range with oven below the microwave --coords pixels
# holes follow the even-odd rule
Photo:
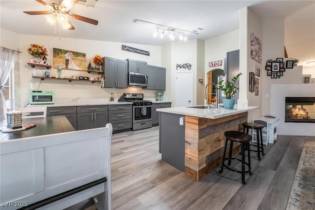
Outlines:
[[[132,130],[152,127],[152,102],[144,101],[142,93],[126,93],[126,101],[132,102]]]

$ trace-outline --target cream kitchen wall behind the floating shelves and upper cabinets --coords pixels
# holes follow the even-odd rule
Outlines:
[[[140,61],[146,61],[150,65],[161,66],[161,47],[151,45],[139,45],[119,42],[107,42],[107,41],[96,41],[86,39],[74,39],[74,38],[61,38],[53,36],[38,36],[38,35],[19,35],[19,40],[12,41],[12,33],[1,30],[1,43],[6,42],[9,48],[16,48],[16,43],[19,43],[19,50],[23,53],[20,55],[20,69],[16,70],[15,73],[15,85],[16,85],[16,99],[20,102],[21,106],[29,103],[29,89],[31,83],[35,87],[41,90],[54,90],[56,103],[66,103],[74,98],[109,98],[110,92],[115,94],[115,97],[119,98],[122,93],[144,93],[146,98],[155,98],[158,91],[153,90],[142,90],[139,87],[129,87],[127,89],[112,89],[112,88],[100,88],[99,83],[90,83],[83,81],[72,81],[67,80],[43,80],[32,78],[32,70],[46,70],[40,68],[31,68],[26,62],[31,58],[27,53],[27,48],[32,43],[38,43],[44,45],[48,49],[48,54],[51,55],[48,59],[53,62],[53,48],[68,49],[77,52],[86,53],[87,64],[93,59],[95,54],[101,56],[113,57],[118,59],[135,59]],[[17,38],[17,35],[14,36]],[[9,41],[8,41],[9,40]],[[121,50],[121,45],[125,44],[135,48],[150,51],[150,56],[144,56],[136,53],[130,53]],[[91,62],[93,64],[93,62]],[[56,69],[49,70],[51,74],[56,74]],[[85,71],[78,70],[63,70],[62,76],[81,75],[81,76],[92,76],[96,77],[98,74],[89,74]],[[65,101],[68,100],[68,101]]]

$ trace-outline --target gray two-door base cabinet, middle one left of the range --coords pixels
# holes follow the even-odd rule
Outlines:
[[[105,127],[107,122],[107,105],[88,105],[77,107],[78,130]]]

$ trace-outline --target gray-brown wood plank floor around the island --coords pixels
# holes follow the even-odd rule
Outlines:
[[[113,210],[285,210],[303,144],[315,137],[278,136],[261,161],[252,152],[253,175],[219,168],[193,181],[161,160],[158,127],[112,137]],[[239,168],[241,164],[234,164]]]

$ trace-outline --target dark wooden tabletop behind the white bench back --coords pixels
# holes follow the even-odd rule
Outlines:
[[[5,122],[1,121],[0,125],[3,126],[5,125],[4,123]],[[36,124],[36,126],[24,131],[11,133],[0,132],[0,141],[75,131],[70,122],[63,115],[22,119],[22,124]]]

